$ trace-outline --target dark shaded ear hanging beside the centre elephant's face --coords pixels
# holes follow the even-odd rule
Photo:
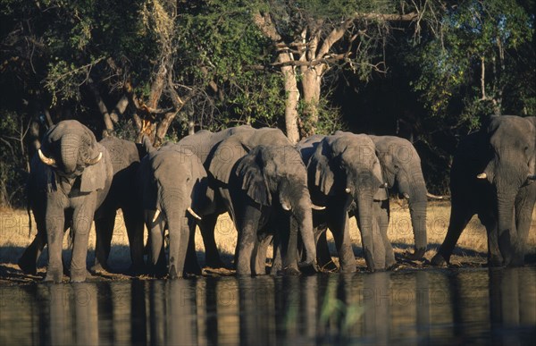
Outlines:
[[[264,179],[263,147],[255,147],[242,157],[237,165],[236,174],[241,181],[241,189],[246,191],[247,196],[262,206],[270,206],[272,196]]]

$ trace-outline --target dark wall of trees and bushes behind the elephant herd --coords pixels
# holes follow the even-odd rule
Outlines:
[[[511,0],[0,0],[0,205],[24,204],[29,157],[63,119],[97,139],[147,133],[156,145],[242,123],[285,131],[283,49],[295,59],[302,137],[405,137],[429,190],[448,194],[461,137],[490,114],[536,114],[534,9]],[[314,38],[336,30],[330,51],[307,60]],[[314,101],[300,56],[306,69],[325,67]]]

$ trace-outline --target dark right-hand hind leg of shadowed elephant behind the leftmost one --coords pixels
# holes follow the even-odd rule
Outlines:
[[[129,237],[130,245],[130,272],[140,274],[144,271],[145,262],[143,260],[144,253],[144,225],[143,215],[137,210],[128,208],[122,209],[125,227],[127,228],[127,236]]]

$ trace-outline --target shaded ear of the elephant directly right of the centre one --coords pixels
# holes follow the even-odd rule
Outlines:
[[[309,181],[313,181],[314,186],[318,187],[326,196],[335,194],[335,190],[333,189],[335,173],[331,170],[330,157],[331,148],[326,142],[326,139],[322,139],[307,165]]]

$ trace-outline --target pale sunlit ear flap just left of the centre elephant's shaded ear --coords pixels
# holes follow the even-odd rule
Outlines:
[[[233,137],[225,139],[218,145],[214,155],[210,158],[208,171],[217,181],[228,184],[232,168],[248,151],[238,139]]]

